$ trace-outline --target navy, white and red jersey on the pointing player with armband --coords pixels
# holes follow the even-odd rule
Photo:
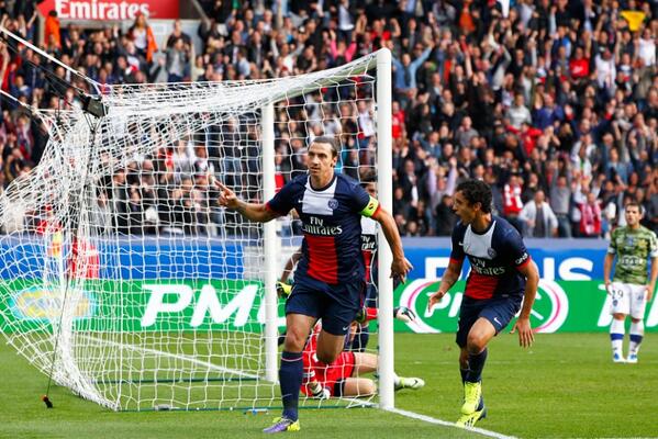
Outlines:
[[[337,284],[364,279],[360,212],[370,196],[356,180],[335,175],[325,188],[313,188],[308,175],[286,184],[267,207],[286,215],[294,209],[302,222],[302,257],[295,281],[309,275]]]

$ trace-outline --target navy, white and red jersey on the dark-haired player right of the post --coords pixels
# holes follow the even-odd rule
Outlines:
[[[462,261],[465,257],[471,267],[464,293],[467,297],[523,295],[525,277],[518,269],[529,263],[531,257],[518,232],[505,219],[492,216],[481,234],[458,223],[453,230],[450,259]]]

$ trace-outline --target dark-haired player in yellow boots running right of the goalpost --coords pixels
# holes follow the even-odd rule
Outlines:
[[[482,398],[482,369],[487,345],[521,308],[512,331],[518,342],[534,341],[529,324],[539,274],[518,232],[491,214],[491,189],[482,181],[467,180],[457,187],[453,209],[461,219],[453,230],[453,251],[438,291],[428,308],[440,302],[461,273],[464,258],[471,266],[459,309],[457,345],[464,383],[464,405],[457,425],[470,427],[487,416]]]

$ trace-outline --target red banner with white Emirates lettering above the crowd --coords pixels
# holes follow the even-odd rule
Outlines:
[[[140,13],[149,19],[178,19],[178,0],[46,0],[38,4],[46,16],[57,11],[62,20],[134,20]]]

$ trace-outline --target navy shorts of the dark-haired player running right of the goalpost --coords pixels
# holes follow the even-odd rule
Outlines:
[[[466,347],[466,340],[470,328],[480,317],[488,319],[495,328],[495,334],[503,330],[510,320],[521,309],[523,296],[510,295],[508,297],[493,297],[477,300],[464,296],[459,309],[459,326],[457,328],[457,345]]]

